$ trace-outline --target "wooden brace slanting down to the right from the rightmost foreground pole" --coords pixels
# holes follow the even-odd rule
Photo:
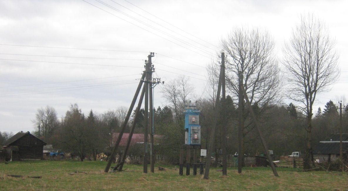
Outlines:
[[[256,126],[256,128],[258,129],[258,132],[259,132],[259,134],[260,134],[260,138],[261,138],[261,141],[262,141],[263,149],[264,149],[264,152],[267,153],[267,159],[268,159],[268,161],[269,161],[269,165],[270,165],[271,168],[272,168],[273,174],[274,174],[274,176],[279,176],[278,173],[277,173],[276,167],[275,167],[274,164],[273,164],[273,161],[272,161],[272,159],[271,159],[271,156],[270,156],[269,153],[268,153],[268,148],[267,148],[266,141],[263,139],[263,135],[262,135],[262,132],[261,132],[261,130],[260,130],[260,124],[259,124],[259,122],[256,120],[256,116],[255,116],[255,114],[254,114],[253,108],[252,108],[251,103],[250,103],[250,101],[249,101],[248,95],[246,94],[246,91],[245,91],[245,89],[244,89],[244,86],[243,86],[243,85],[240,85],[240,89],[242,89],[242,91],[243,91],[244,98],[245,98],[246,104],[248,105],[248,108],[249,108],[251,117],[253,118],[253,121],[254,121],[254,123],[255,123],[255,126]],[[241,153],[238,153],[238,154],[241,155]]]

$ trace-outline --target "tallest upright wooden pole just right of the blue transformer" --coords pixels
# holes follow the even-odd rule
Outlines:
[[[225,88],[225,53],[221,52],[221,68],[222,68],[222,119],[221,122],[221,139],[222,139],[222,175],[227,176],[227,156],[226,156],[226,142],[227,142],[227,117],[226,117],[226,88]],[[220,112],[220,111],[218,111]]]

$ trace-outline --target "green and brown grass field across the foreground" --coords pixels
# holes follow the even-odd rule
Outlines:
[[[211,168],[203,176],[179,176],[175,166],[166,171],[143,174],[141,165],[125,165],[123,172],[104,173],[104,161],[16,161],[0,163],[0,190],[347,190],[348,173],[301,172],[299,169],[228,168],[228,176]],[[173,168],[173,169],[168,169]],[[75,171],[85,173],[74,173]],[[150,172],[150,165],[149,165]],[[72,173],[72,175],[70,175]],[[185,173],[185,169],[184,169]],[[23,175],[23,178],[7,176]],[[192,169],[191,169],[192,174]],[[27,176],[42,176],[29,178]]]

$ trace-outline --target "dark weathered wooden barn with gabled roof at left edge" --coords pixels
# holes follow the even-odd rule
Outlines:
[[[7,161],[41,160],[44,141],[30,134],[20,131],[4,142],[2,147]]]

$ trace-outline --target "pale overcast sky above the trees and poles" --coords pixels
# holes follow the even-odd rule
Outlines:
[[[234,27],[267,29],[281,59],[308,13],[326,23],[340,55],[341,77],[315,107],[347,92],[346,0],[127,1],[0,1],[0,131],[33,131],[37,109],[47,105],[58,117],[74,103],[85,114],[129,107],[149,52],[155,77],[190,76],[199,97],[205,66]],[[165,105],[157,87],[155,107]]]

